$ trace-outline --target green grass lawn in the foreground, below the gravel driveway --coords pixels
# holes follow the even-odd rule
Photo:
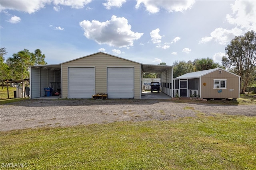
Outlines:
[[[256,169],[256,117],[198,113],[174,121],[14,130],[0,137],[0,165],[21,169]]]

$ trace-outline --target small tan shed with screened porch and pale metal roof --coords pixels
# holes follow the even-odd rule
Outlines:
[[[173,97],[235,99],[240,93],[240,76],[222,68],[190,72],[173,84]]]

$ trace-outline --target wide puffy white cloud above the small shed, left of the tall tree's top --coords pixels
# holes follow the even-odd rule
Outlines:
[[[207,43],[209,41],[214,40],[216,43],[220,45],[228,44],[235,36],[241,35],[243,31],[238,28],[233,28],[231,30],[224,28],[216,28],[212,33],[210,33],[210,37],[203,37],[199,43]]]

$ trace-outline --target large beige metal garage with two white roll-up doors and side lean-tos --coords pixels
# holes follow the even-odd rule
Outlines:
[[[172,96],[172,66],[141,64],[107,53],[94,53],[60,64],[30,66],[30,98],[43,97],[44,88],[61,88],[62,98],[140,99],[142,73],[160,72],[162,92]]]

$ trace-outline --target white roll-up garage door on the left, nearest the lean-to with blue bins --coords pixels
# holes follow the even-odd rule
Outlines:
[[[68,98],[92,98],[95,74],[93,67],[68,68]]]

